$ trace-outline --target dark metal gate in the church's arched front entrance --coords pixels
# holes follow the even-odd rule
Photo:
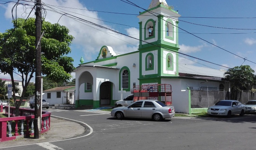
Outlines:
[[[100,104],[110,104],[111,82],[106,81],[100,85]]]

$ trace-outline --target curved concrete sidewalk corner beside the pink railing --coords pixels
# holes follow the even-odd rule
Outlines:
[[[42,134],[41,138],[33,139],[33,138],[24,138],[20,136],[19,138],[12,141],[0,142],[0,148],[62,140],[62,139],[74,137],[76,135],[80,135],[85,131],[86,129],[79,123],[51,117],[50,130]]]

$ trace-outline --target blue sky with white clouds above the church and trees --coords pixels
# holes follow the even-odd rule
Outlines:
[[[137,15],[143,10],[124,1],[126,0],[42,0],[47,12],[46,20],[51,23],[57,23],[59,20],[59,24],[67,26],[70,29],[70,34],[75,37],[71,45],[72,52],[68,55],[73,57],[75,67],[80,64],[81,57],[84,58],[84,62],[95,60],[103,45],[113,47],[114,51],[119,54],[125,54],[136,51],[139,41],[113,34],[111,31],[99,29],[93,25],[79,23],[66,16],[60,18],[61,14],[53,12],[53,10],[62,11],[62,14],[72,14],[139,39]],[[144,9],[147,9],[151,3],[151,0],[129,1]],[[4,2],[7,1],[0,0],[0,3]],[[166,0],[166,2],[168,5],[172,5],[174,10],[179,10],[181,15],[179,18],[180,52],[215,63],[182,56],[179,57],[180,64],[209,66],[224,70],[227,68],[219,65],[232,68],[243,64],[250,65],[252,69],[256,70],[256,3],[254,0]],[[33,3],[28,4],[32,5]],[[14,3],[0,4],[0,32],[12,28],[11,9],[13,5]],[[28,5],[26,7],[19,5],[17,17],[26,18],[30,10]],[[116,13],[125,13],[126,15]],[[247,60],[244,61],[245,59]],[[3,74],[0,74],[0,77],[10,78]]]

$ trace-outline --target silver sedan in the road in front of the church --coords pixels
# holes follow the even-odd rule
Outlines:
[[[172,118],[174,115],[174,106],[167,106],[165,103],[157,100],[140,100],[127,107],[117,107],[111,111],[111,116],[119,120],[124,117],[130,117],[160,121],[165,118]]]

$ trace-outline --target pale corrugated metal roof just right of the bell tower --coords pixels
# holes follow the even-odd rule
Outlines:
[[[179,64],[179,73],[186,73],[191,75],[201,75],[210,77],[224,77],[225,70],[217,70],[187,64]]]

